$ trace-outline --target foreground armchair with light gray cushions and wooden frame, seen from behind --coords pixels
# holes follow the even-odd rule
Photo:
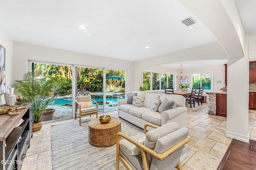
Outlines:
[[[146,132],[147,126],[156,129]],[[120,141],[120,137],[124,140]],[[128,170],[182,170],[180,156],[188,141],[188,129],[180,129],[176,122],[161,127],[147,123],[144,133],[132,137],[120,132],[116,143],[116,170],[119,160]]]

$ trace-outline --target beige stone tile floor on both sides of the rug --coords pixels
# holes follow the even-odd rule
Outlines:
[[[114,111],[113,111],[114,112]],[[226,117],[208,115],[208,105],[188,107],[187,127],[191,140],[189,147],[196,150],[195,154],[182,166],[184,170],[215,170],[228,149],[231,138],[225,136]],[[82,117],[86,119],[86,117]],[[24,161],[38,164],[23,164],[22,170],[51,170],[51,164],[40,164],[52,160],[51,131],[52,125],[58,125],[74,119],[44,124],[42,129],[33,133],[30,148]],[[256,140],[256,111],[249,110],[250,139]]]

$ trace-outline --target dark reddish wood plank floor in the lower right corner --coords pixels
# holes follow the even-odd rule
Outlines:
[[[256,141],[233,139],[217,170],[256,170]]]

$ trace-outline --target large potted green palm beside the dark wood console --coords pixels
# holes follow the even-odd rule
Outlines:
[[[56,99],[55,94],[51,95],[49,93],[52,92],[52,89],[56,84],[58,84],[57,77],[50,78],[45,82],[40,83],[38,76],[33,72],[26,72],[23,76],[23,80],[15,80],[13,83],[14,88],[23,97],[23,102],[33,102],[33,132],[41,129],[41,119],[46,111],[46,107],[50,102]],[[37,128],[34,130],[34,127]]]

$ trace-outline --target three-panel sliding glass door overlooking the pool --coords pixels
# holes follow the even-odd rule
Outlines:
[[[28,63],[28,70],[38,75],[42,82],[58,77],[57,98],[48,106],[56,110],[53,120],[74,118],[75,103],[72,101],[76,96],[91,95],[98,103],[98,113],[117,110],[117,100],[125,98],[125,70],[38,61]]]

